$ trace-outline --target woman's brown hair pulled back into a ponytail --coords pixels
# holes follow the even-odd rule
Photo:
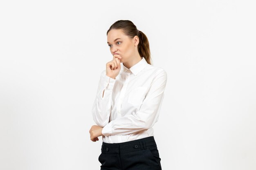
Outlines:
[[[143,32],[137,30],[135,24],[133,24],[130,20],[118,20],[110,26],[107,31],[107,35],[111,29],[122,29],[124,33],[130,38],[134,38],[137,35],[139,37],[139,55],[144,57],[148,64],[151,64],[148,38]]]

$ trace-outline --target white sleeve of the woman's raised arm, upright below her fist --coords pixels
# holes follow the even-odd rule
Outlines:
[[[115,81],[116,79],[112,79],[106,75],[106,70],[101,72],[97,95],[92,106],[92,117],[98,126],[103,127],[109,122],[112,105],[112,90]]]

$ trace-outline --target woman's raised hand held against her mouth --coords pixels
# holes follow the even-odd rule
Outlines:
[[[121,64],[120,64],[120,57],[119,55],[114,55],[113,60],[110,62],[107,62],[106,64],[106,75],[108,77],[111,77],[112,79],[115,79],[117,75],[119,74],[121,70]]]

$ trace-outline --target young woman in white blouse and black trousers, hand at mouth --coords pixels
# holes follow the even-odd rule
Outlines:
[[[129,20],[107,31],[113,59],[101,72],[90,129],[102,136],[101,170],[162,170],[154,139],[167,74],[150,62],[148,38]]]

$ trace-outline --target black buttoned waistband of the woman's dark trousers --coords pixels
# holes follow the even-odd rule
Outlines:
[[[154,136],[113,144],[102,142],[101,153],[125,153],[132,152],[135,150],[147,149],[155,146],[157,146],[157,144],[155,142]]]

